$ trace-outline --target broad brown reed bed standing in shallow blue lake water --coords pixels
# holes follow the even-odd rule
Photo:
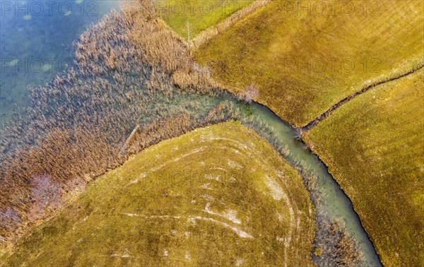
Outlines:
[[[84,32],[75,65],[49,85],[33,88],[27,117],[4,130],[0,211],[11,219],[0,225],[2,241],[16,232],[16,222],[25,227],[38,218],[30,215],[36,179],[49,177],[65,186],[121,165],[128,156],[122,146],[136,125],[148,126],[143,146],[133,151],[216,121],[208,114],[213,102],[175,87],[184,82],[189,86],[180,87],[187,92],[202,91],[213,83],[194,69],[184,40],[153,11],[147,2],[124,6]],[[175,81],[176,72],[189,75]]]

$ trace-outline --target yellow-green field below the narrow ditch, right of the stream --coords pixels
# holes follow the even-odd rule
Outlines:
[[[379,85],[308,132],[386,266],[423,266],[424,71]]]

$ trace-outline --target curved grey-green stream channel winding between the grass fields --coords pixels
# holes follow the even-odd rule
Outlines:
[[[338,183],[329,174],[327,167],[317,155],[311,152],[298,137],[297,131],[274,114],[271,109],[260,105],[257,102],[246,104],[235,99],[229,93],[223,93],[219,96],[196,95],[190,93],[177,93],[167,105],[177,107],[190,106],[190,102],[201,103],[201,108],[189,108],[192,114],[204,112],[207,108],[218,105],[220,102],[227,102],[235,111],[235,117],[249,128],[257,131],[259,135],[266,138],[274,147],[283,146],[286,153],[283,158],[297,170],[304,173],[315,174],[317,185],[314,191],[310,191],[312,201],[320,218],[329,221],[341,220],[351,235],[360,246],[360,250],[365,258],[365,266],[382,266],[381,261],[375,251],[370,238],[365,232],[358,214],[353,210],[351,200],[341,190]],[[199,107],[198,106],[198,107]],[[202,108],[203,107],[203,108]],[[187,109],[186,109],[187,110]],[[319,196],[319,201],[314,201],[314,196]],[[319,228],[317,228],[319,231]],[[313,256],[314,257],[314,256]],[[317,259],[314,259],[316,261]]]

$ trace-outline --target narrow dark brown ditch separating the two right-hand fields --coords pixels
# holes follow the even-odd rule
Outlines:
[[[319,124],[319,122],[321,122],[324,119],[326,119],[326,117],[329,117],[329,115],[332,112],[334,112],[334,110],[338,109],[338,107],[341,107],[341,105],[346,104],[346,102],[352,100],[354,97],[357,97],[358,95],[362,95],[363,93],[367,92],[371,88],[375,88],[375,86],[377,86],[377,85],[381,85],[383,83],[389,83],[391,81],[396,81],[396,80],[398,80],[400,78],[404,78],[405,76],[408,76],[408,75],[410,75],[412,73],[415,73],[416,71],[419,71],[420,69],[423,69],[423,67],[424,67],[424,64],[420,64],[419,66],[417,66],[416,68],[412,69],[411,71],[408,71],[408,72],[403,73],[403,74],[399,74],[398,76],[394,76],[393,78],[387,78],[387,79],[385,79],[383,81],[372,83],[371,85],[368,85],[367,87],[363,88],[362,90],[359,90],[356,93],[353,93],[351,95],[348,95],[348,97],[345,97],[345,98],[343,98],[343,100],[340,100],[335,105],[332,105],[329,109],[327,109],[326,112],[324,112],[323,114],[319,115],[317,118],[315,118],[312,121],[310,121],[309,124],[307,124],[306,126],[303,126],[303,127],[299,128],[298,130],[300,131],[300,133],[305,132],[305,131],[309,131],[310,129],[314,128],[314,126],[317,126],[317,124]]]

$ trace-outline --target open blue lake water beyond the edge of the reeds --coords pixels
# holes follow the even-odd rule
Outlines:
[[[73,62],[72,42],[122,1],[0,1],[0,115],[28,105],[28,86],[44,85]]]

